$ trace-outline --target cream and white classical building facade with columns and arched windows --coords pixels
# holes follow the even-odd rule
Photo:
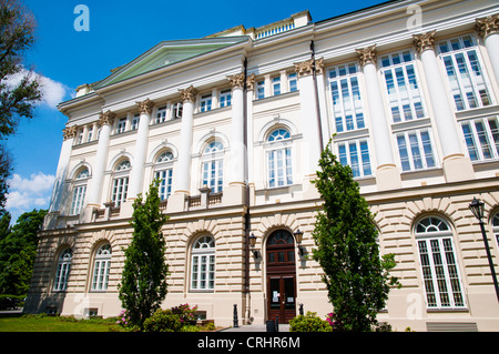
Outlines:
[[[330,141],[375,214],[397,331],[499,330],[499,6],[390,1],[164,41],[59,105],[68,117],[28,312],[113,316],[132,203],[161,179],[163,306],[231,325],[332,311],[312,259]],[[302,237],[303,234],[303,237]]]

